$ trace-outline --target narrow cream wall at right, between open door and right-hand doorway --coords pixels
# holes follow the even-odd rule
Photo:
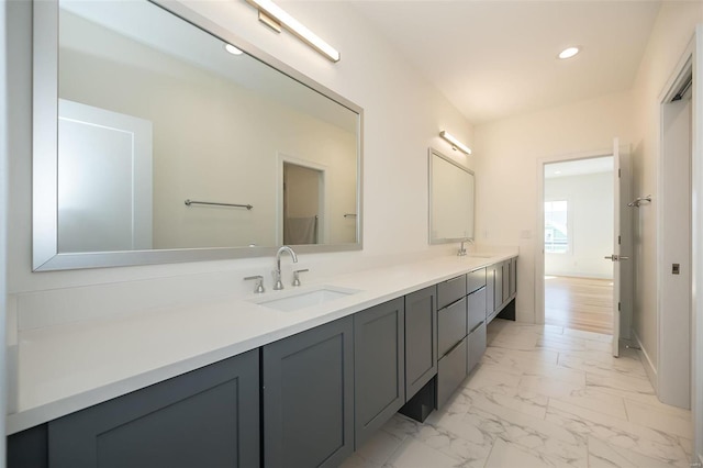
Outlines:
[[[700,2],[662,2],[635,81],[634,193],[652,194],[652,203],[635,213],[635,313],[633,328],[656,370],[657,344],[657,165],[660,99],[665,85],[703,21]]]

